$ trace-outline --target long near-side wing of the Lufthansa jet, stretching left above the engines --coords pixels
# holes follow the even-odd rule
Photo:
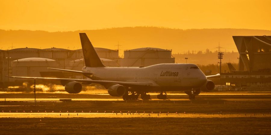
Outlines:
[[[108,83],[117,83],[120,85],[126,85],[128,87],[133,86],[155,86],[152,82],[118,82],[118,81],[101,81],[101,80],[91,80],[91,79],[68,79],[68,78],[44,78],[44,77],[19,77],[19,76],[6,76],[11,78],[24,78],[24,79],[44,79],[44,80],[60,80],[60,81],[76,81],[83,82],[84,84],[98,83],[105,85]]]

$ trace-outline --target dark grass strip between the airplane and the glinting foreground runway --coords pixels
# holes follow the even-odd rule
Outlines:
[[[39,94],[38,98],[48,98],[56,94]],[[0,98],[33,98],[33,94],[1,94]],[[112,98],[109,95],[70,95],[60,94],[57,98]],[[155,98],[155,96],[152,96]],[[11,111],[12,113],[23,111],[36,113],[39,112],[99,112],[107,113],[120,112],[126,113],[271,113],[271,95],[198,95],[195,100],[187,100],[186,95],[169,95],[169,100],[129,100],[123,101],[39,101],[34,106],[34,102],[28,101],[0,101],[0,112]],[[176,100],[183,98],[184,100]],[[105,99],[106,100],[106,99]],[[33,100],[32,100],[33,101]]]

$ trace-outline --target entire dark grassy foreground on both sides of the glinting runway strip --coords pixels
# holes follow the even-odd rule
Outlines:
[[[39,94],[48,98],[55,94]],[[57,95],[58,98],[111,98],[108,95]],[[33,98],[1,94],[0,98]],[[154,96],[152,96],[155,98]],[[184,98],[169,95],[168,98]],[[0,111],[141,112],[242,114],[229,118],[0,118],[0,134],[270,134],[271,95],[199,95],[196,100],[160,101],[0,101]],[[256,114],[254,116],[254,113]],[[0,114],[1,115],[1,114]],[[65,113],[67,115],[67,113]],[[266,115],[266,117],[260,117]],[[267,116],[268,115],[268,116]]]

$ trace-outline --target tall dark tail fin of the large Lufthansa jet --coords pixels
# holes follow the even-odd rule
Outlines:
[[[79,33],[86,67],[105,67],[86,33]]]

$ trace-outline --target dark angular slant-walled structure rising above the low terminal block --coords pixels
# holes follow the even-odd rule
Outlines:
[[[271,36],[233,36],[240,54],[239,70],[270,72]]]

